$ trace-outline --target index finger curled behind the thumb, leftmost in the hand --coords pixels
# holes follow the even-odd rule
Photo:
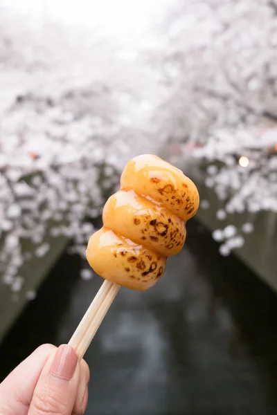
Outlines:
[[[37,380],[47,359],[56,349],[52,344],[43,344],[3,380],[0,385],[0,414],[28,414]]]

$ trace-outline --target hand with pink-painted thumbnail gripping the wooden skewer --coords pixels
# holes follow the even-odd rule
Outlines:
[[[44,344],[0,384],[1,415],[82,415],[89,367],[73,349]]]

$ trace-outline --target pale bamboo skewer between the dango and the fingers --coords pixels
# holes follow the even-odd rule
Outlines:
[[[69,340],[69,345],[73,347],[80,359],[86,353],[91,340],[93,339],[96,331],[98,330],[102,320],[104,319],[111,303],[114,301],[116,294],[118,293],[120,286],[114,284],[114,282],[103,282],[98,293],[93,298],[91,305],[87,309],[87,312],[82,317],[80,324],[78,325],[75,333]]]

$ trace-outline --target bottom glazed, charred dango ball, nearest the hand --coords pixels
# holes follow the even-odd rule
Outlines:
[[[107,228],[89,239],[87,260],[100,277],[136,291],[154,286],[166,268],[166,257]]]

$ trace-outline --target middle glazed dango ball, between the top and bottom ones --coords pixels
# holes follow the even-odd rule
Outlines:
[[[184,246],[186,225],[159,203],[134,191],[113,194],[103,211],[105,228],[169,257]]]

